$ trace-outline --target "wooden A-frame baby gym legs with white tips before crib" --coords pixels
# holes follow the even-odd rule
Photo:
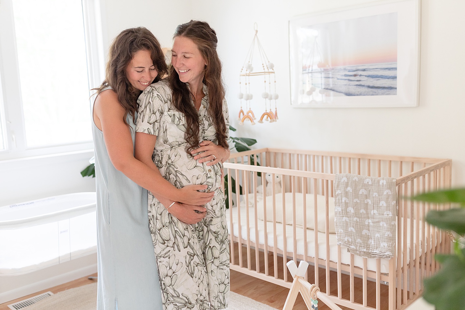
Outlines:
[[[339,306],[329,300],[326,295],[322,294],[319,291],[319,287],[315,284],[308,283],[305,279],[305,272],[307,271],[308,263],[305,261],[300,261],[299,268],[294,263],[293,260],[287,262],[287,269],[291,272],[294,281],[292,282],[291,289],[289,290],[289,294],[286,298],[286,303],[284,303],[283,310],[292,310],[294,307],[295,299],[297,295],[300,293],[302,298],[307,305],[309,310],[312,310],[312,305],[315,306],[315,310],[318,309],[318,301],[319,298],[323,303],[325,303],[328,307],[332,310],[342,310]]]

